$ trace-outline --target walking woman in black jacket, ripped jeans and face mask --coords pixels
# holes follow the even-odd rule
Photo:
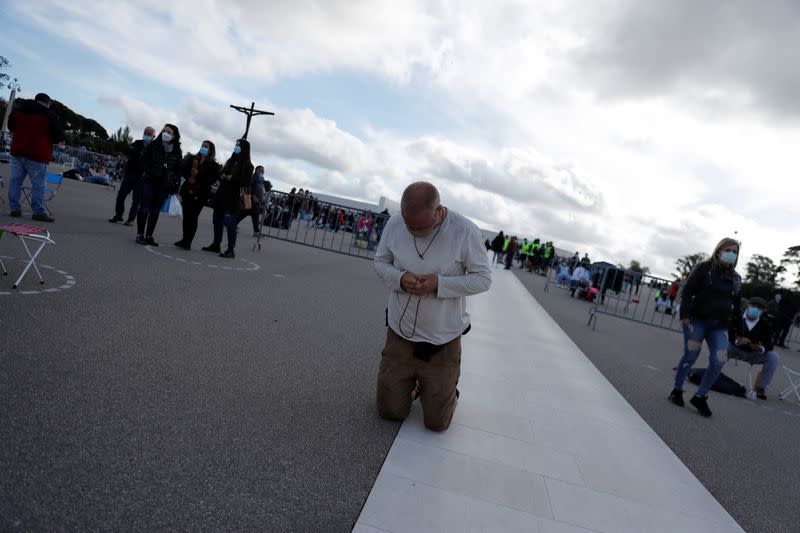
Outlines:
[[[683,407],[683,383],[705,340],[709,351],[708,369],[689,403],[706,417],[711,416],[708,391],[725,364],[730,322],[734,317],[738,320],[742,316],[742,278],[736,272],[739,246],[735,239],[722,239],[711,258],[699,263],[689,274],[681,294],[684,351],[669,400]]]

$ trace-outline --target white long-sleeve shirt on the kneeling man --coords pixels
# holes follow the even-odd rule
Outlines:
[[[455,339],[469,325],[466,296],[489,290],[492,268],[478,227],[465,217],[447,210],[439,234],[416,238],[406,228],[400,213],[386,223],[375,253],[375,272],[389,293],[389,327],[410,341],[444,344]],[[428,248],[430,244],[430,248]],[[424,250],[428,248],[427,252]],[[423,253],[419,257],[417,250]],[[439,289],[421,299],[400,288],[406,272],[437,274]],[[411,303],[408,304],[409,297]],[[414,315],[419,303],[416,331]],[[405,314],[403,310],[406,309]],[[400,318],[403,318],[402,324]]]

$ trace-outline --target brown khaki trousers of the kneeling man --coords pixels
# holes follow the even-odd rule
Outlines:
[[[378,413],[388,420],[405,420],[411,411],[411,391],[419,382],[425,427],[444,431],[456,410],[461,336],[443,344],[430,361],[422,361],[413,356],[414,343],[386,329],[378,371]]]

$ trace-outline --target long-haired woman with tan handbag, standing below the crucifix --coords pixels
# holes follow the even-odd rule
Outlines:
[[[245,139],[239,139],[236,141],[233,154],[222,167],[220,186],[214,199],[214,242],[204,247],[204,251],[215,252],[220,257],[229,259],[236,257],[233,249],[236,247],[236,226],[239,223],[242,187],[247,187],[252,175],[250,143]],[[223,226],[228,232],[228,248],[221,253]]]

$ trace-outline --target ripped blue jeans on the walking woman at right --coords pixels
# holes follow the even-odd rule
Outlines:
[[[728,354],[728,328],[720,320],[707,320],[691,318],[688,326],[683,326],[683,357],[678,363],[675,372],[675,388],[683,389],[683,382],[692,370],[703,340],[708,344],[708,370],[703,375],[700,388],[697,389],[697,396],[706,396],[711,385],[717,381],[725,358]]]

